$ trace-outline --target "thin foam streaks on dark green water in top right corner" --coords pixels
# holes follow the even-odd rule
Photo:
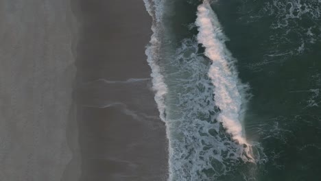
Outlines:
[[[248,6],[251,5],[250,3]],[[318,33],[320,10],[321,4],[318,0],[265,1],[257,14],[273,20],[270,23],[266,21],[271,28],[269,42],[274,45],[271,46],[270,52],[273,54],[291,52],[293,56],[298,56],[311,51],[312,44],[320,40]],[[278,47],[283,48],[278,49]],[[289,60],[286,56],[281,58],[278,59],[281,62]]]

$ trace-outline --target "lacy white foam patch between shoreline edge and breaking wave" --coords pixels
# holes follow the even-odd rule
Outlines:
[[[166,120],[172,149],[169,180],[216,180],[237,167],[240,158],[248,161],[244,156],[246,150],[230,141],[230,136],[221,131],[221,123],[215,121],[219,110],[215,107],[214,86],[207,75],[210,64],[199,53],[198,41],[186,38],[181,43],[167,65],[169,69],[175,68],[175,73],[166,77],[169,82]],[[250,170],[254,171],[256,167],[252,166]]]

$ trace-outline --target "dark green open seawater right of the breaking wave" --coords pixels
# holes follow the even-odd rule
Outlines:
[[[213,9],[254,95],[246,136],[267,156],[257,180],[321,180],[321,2],[219,1]]]

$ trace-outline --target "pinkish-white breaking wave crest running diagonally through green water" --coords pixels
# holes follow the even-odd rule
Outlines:
[[[213,12],[209,1],[203,1],[198,6],[195,24],[198,26],[198,43],[205,48],[205,56],[211,59],[209,77],[212,80],[215,94],[215,104],[221,110],[217,120],[222,122],[226,132],[234,141],[243,145],[243,160],[254,162],[252,146],[246,141],[242,130],[243,108],[246,100],[244,94],[246,87],[242,85],[238,73],[233,64],[234,58],[226,48],[227,40],[223,34],[221,25]]]

